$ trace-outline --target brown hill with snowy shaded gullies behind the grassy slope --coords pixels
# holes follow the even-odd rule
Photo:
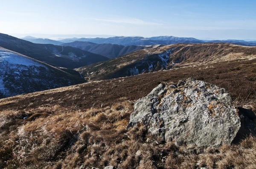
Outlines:
[[[184,66],[253,58],[256,58],[255,47],[227,43],[175,44],[143,49],[76,70],[87,79],[101,80]]]

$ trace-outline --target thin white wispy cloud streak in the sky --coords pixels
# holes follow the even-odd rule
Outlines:
[[[91,18],[96,21],[111,22],[111,23],[128,23],[134,25],[163,25],[162,23],[153,23],[145,22],[137,18],[122,18],[122,19],[100,19],[100,18]]]

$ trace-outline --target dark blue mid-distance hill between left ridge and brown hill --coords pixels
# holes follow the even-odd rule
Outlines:
[[[155,48],[155,45],[150,46],[136,46],[136,45],[116,45],[110,43],[96,44],[93,42],[82,42],[75,41],[70,43],[63,43],[64,46],[72,46],[75,48],[80,48],[84,51],[89,51],[94,54],[100,54],[103,56],[107,56],[108,58],[116,58],[118,56],[122,56],[124,54],[128,54],[134,51],[139,51],[145,48]]]

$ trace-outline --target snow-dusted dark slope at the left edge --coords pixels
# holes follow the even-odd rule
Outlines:
[[[0,98],[82,82],[77,76],[0,47]]]

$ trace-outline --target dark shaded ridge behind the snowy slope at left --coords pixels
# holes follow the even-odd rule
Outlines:
[[[0,34],[0,46],[40,60],[52,66],[79,68],[91,63],[108,60],[107,57],[70,46],[36,44],[6,34]]]

